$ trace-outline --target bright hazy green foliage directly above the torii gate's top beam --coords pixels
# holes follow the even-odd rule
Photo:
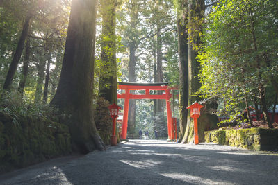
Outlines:
[[[146,8],[147,7],[147,8]],[[122,1],[117,7],[117,33],[122,36],[120,67],[122,81],[127,81],[130,46],[136,57],[136,81],[154,82],[157,58],[157,33],[161,32],[163,81],[177,79],[176,15],[172,1]],[[125,49],[125,50],[124,50]]]

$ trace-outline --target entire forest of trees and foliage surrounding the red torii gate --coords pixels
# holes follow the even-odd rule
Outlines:
[[[117,82],[170,82],[184,143],[195,101],[206,105],[202,132],[218,116],[251,127],[255,114],[273,127],[277,48],[276,0],[0,1],[0,111],[67,114],[76,150],[101,150],[111,128],[98,113],[124,105]],[[165,112],[165,100],[130,100],[129,133],[167,137]]]

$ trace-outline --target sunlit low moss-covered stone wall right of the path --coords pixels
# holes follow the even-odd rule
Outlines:
[[[278,150],[278,129],[215,130],[205,132],[205,141],[250,150]]]

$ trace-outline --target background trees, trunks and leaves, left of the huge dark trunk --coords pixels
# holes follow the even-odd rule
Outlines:
[[[56,55],[63,52],[68,5],[69,1],[52,0],[11,0],[1,3],[0,31],[1,35],[6,35],[6,38],[0,38],[0,83],[3,89],[15,89],[19,83],[19,94],[25,94],[29,98],[35,96],[36,102],[42,103],[44,91],[44,101],[49,99],[49,94],[46,93],[49,91],[47,82],[56,82],[52,78],[54,71],[51,71],[50,65],[60,65]],[[24,21],[24,24],[19,24],[20,21]],[[20,65],[21,62],[23,65]],[[49,68],[46,67],[46,62]]]

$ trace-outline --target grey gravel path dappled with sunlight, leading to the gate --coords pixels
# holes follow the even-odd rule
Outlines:
[[[278,154],[131,140],[1,175],[0,184],[278,184]]]

